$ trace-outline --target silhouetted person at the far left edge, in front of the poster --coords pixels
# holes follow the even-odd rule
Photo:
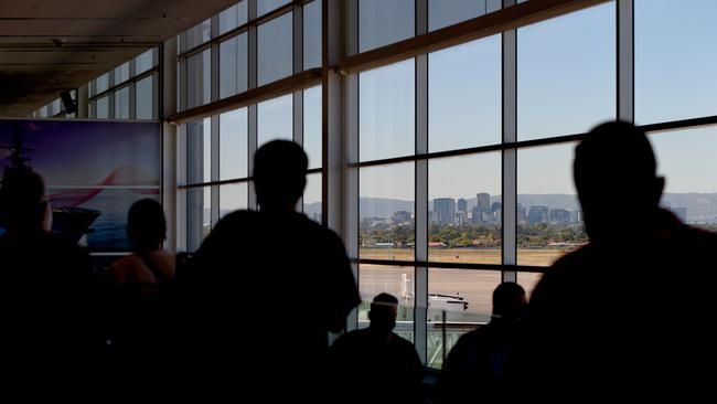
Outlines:
[[[30,169],[6,168],[0,215],[6,227],[0,237],[2,378],[40,384],[73,379],[66,373],[72,361],[76,368],[69,373],[79,383],[78,374],[96,364],[101,349],[89,258],[76,244],[50,232],[45,185]]]

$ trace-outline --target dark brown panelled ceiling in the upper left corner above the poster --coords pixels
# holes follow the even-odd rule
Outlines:
[[[26,116],[236,0],[0,2],[0,116]]]

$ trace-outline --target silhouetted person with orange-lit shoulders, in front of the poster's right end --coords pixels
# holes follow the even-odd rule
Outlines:
[[[165,354],[174,278],[174,255],[162,248],[167,223],[162,205],[151,199],[135,202],[127,214],[127,236],[133,254],[113,263],[105,275],[110,299],[109,341],[125,376],[159,365]]]

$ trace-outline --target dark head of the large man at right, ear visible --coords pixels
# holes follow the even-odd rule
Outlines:
[[[664,179],[644,132],[623,121],[599,125],[575,149],[575,187],[590,241],[633,236],[649,227]],[[620,226],[629,225],[630,232]]]

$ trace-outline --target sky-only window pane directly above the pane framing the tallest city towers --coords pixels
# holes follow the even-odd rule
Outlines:
[[[501,55],[500,35],[429,55],[430,151],[501,142]]]

